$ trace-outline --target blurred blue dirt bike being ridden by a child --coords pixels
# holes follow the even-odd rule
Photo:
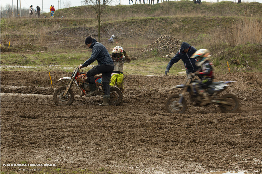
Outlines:
[[[194,74],[189,74],[186,78],[185,84],[177,85],[172,87],[170,90],[175,88],[182,88],[181,94],[172,94],[165,100],[165,108],[167,112],[170,113],[185,113],[187,110],[187,102],[185,100],[185,93],[190,94],[190,104],[195,102],[195,106],[200,106],[201,98],[197,94],[197,90],[194,87],[198,81],[193,81]],[[227,112],[237,112],[240,107],[240,102],[237,96],[233,94],[225,94],[218,97],[217,94],[224,91],[227,88],[227,83],[232,83],[233,81],[223,81],[223,82],[213,82],[206,90],[208,92],[211,103],[216,103],[219,105],[222,113]],[[209,105],[208,103],[207,105]]]

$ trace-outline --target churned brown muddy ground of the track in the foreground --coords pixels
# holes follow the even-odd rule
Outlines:
[[[71,75],[50,73],[53,82]],[[167,113],[167,89],[185,75],[125,75],[122,104],[100,107],[99,97],[56,106],[48,72],[1,71],[1,173],[261,173],[262,73],[215,75],[236,81],[224,94],[239,97],[239,112],[189,105]]]

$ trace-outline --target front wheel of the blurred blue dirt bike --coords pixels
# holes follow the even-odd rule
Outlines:
[[[178,107],[179,94],[172,94],[165,101],[165,108],[170,113],[185,113],[187,110],[187,102],[183,98],[181,105]]]

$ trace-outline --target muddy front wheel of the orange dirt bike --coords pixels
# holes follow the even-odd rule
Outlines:
[[[61,86],[56,91],[54,91],[53,99],[56,105],[65,106],[71,105],[74,101],[75,95],[72,89],[69,89],[66,97],[63,97],[65,93],[66,86]]]

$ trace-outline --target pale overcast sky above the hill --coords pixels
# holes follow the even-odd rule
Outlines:
[[[25,8],[29,8],[30,5],[33,5],[33,8],[36,8],[36,5],[38,5],[41,8],[41,12],[43,10],[43,12],[48,12],[50,11],[50,5],[54,5],[54,8],[57,10],[58,8],[58,2],[57,1],[61,1],[59,2],[59,9],[64,8],[64,3],[69,2],[71,5],[70,7],[76,7],[76,6],[81,6],[84,5],[83,3],[81,3],[82,0],[18,0],[18,7],[20,7],[20,1],[21,1],[21,7],[25,7]],[[138,1],[138,0],[137,0]],[[143,0],[141,0],[143,1]],[[170,0],[172,1],[172,0]],[[216,0],[202,0],[202,1],[207,1],[207,2],[217,2]],[[219,0],[221,1],[221,0]],[[233,1],[233,0],[232,0]],[[134,2],[134,0],[133,0]],[[155,0],[156,2],[156,0]],[[262,0],[241,0],[241,2],[259,2],[262,3]],[[14,5],[17,5],[17,0],[13,0]],[[120,0],[121,5],[129,5],[129,0]],[[132,1],[131,1],[132,3]],[[135,2],[134,2],[135,3]],[[0,0],[0,4],[2,7],[6,6],[6,4],[10,4],[12,5],[12,0]],[[42,5],[43,4],[43,5]],[[119,0],[114,0],[114,3],[112,3],[111,5],[118,5],[119,4]],[[43,6],[43,8],[42,8]]]

